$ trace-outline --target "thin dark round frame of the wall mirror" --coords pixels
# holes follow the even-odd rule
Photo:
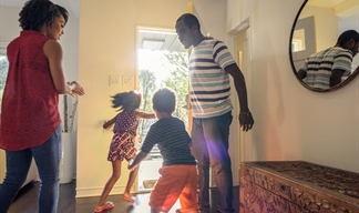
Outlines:
[[[293,59],[293,52],[291,52],[291,40],[293,40],[293,36],[294,36],[294,31],[295,31],[295,28],[296,28],[296,24],[297,24],[297,21],[298,21],[298,18],[302,11],[302,9],[305,8],[305,6],[307,4],[307,2],[310,1],[310,0],[305,0],[295,18],[295,21],[293,23],[293,27],[291,27],[291,31],[290,31],[290,37],[289,37],[289,61],[290,61],[290,65],[291,65],[291,70],[294,72],[294,74],[296,75],[297,80],[301,83],[301,85],[304,85],[305,88],[307,88],[308,90],[311,90],[311,91],[315,91],[315,92],[330,92],[330,91],[335,91],[335,90],[338,90],[340,88],[342,88],[343,85],[348,84],[352,79],[355,79],[359,72],[359,67],[352,71],[352,73],[346,79],[343,80],[342,82],[340,82],[339,84],[335,85],[335,87],[331,87],[329,89],[319,89],[319,88],[312,88],[312,87],[309,87],[307,83],[305,83],[299,77],[298,77],[298,73],[297,73],[297,70],[296,70],[296,67],[294,64],[294,59]],[[309,57],[309,55],[308,55]]]

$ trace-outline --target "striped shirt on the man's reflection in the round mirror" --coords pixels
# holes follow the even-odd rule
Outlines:
[[[339,47],[328,48],[311,54],[300,68],[307,72],[304,82],[312,88],[329,89],[331,71],[339,69],[345,71],[343,77],[349,75],[351,61],[351,51]]]

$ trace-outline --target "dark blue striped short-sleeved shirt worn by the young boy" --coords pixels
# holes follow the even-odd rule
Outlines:
[[[141,151],[150,153],[157,144],[165,165],[195,165],[189,150],[191,138],[185,124],[178,118],[163,118],[151,125]]]

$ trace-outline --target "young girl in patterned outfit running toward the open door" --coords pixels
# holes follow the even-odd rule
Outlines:
[[[94,212],[102,212],[114,207],[112,202],[106,202],[109,193],[113,185],[120,179],[122,161],[127,162],[132,160],[136,154],[135,136],[140,119],[155,119],[154,113],[146,113],[139,111],[141,104],[141,93],[136,92],[123,92],[112,97],[112,108],[119,109],[120,113],[112,120],[103,124],[104,129],[109,129],[114,124],[113,138],[110,145],[107,160],[112,162],[112,176],[109,179],[100,201]],[[133,203],[130,190],[137,175],[139,168],[130,172],[126,189],[122,195],[122,199]]]

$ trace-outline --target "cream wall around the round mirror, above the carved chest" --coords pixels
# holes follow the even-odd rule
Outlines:
[[[227,31],[249,18],[249,103],[256,123],[247,160],[304,160],[359,172],[359,80],[328,93],[304,88],[289,62],[289,36],[302,0],[228,0]],[[236,6],[237,8],[234,8]]]

